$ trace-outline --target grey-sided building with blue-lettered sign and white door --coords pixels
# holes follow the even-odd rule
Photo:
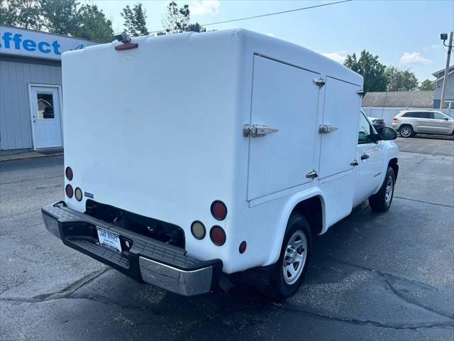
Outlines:
[[[61,55],[94,44],[0,26],[0,153],[62,147]]]

